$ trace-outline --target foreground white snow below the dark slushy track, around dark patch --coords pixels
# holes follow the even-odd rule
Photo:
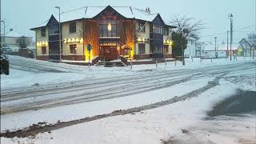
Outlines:
[[[177,143],[242,143],[254,141],[254,116],[246,118],[218,118],[206,121],[206,111],[215,103],[235,94],[235,86],[221,81],[198,98],[146,110],[137,114],[126,114],[104,118],[93,122],[69,126],[51,133],[38,134],[30,138],[2,138],[4,143],[161,143],[161,139],[176,140]],[[152,92],[153,93],[153,92]],[[148,93],[151,95],[151,92]],[[182,134],[181,129],[189,130]]]

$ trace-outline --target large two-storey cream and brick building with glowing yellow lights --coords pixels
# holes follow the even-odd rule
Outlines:
[[[50,20],[35,31],[36,58],[59,60],[59,22]],[[90,7],[71,10],[61,15],[62,59],[113,61],[129,59],[171,58],[171,31],[160,14],[149,8],[130,6]],[[88,44],[92,45],[91,52]]]

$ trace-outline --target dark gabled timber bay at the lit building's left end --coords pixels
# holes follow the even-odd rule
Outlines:
[[[49,59],[59,60],[59,29],[58,21],[51,15],[47,25],[49,27]]]

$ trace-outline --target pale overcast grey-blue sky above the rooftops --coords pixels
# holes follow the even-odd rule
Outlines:
[[[82,6],[134,6],[145,9],[147,6],[154,13],[160,13],[168,22],[175,14],[202,20],[206,29],[201,36],[219,34],[230,30],[230,20],[227,15],[234,14],[234,30],[250,26],[234,32],[234,42],[238,42],[246,34],[255,30],[256,0],[2,0],[1,18],[6,20],[7,28],[34,36],[30,30],[45,22],[50,14],[58,14],[54,6],[60,6],[63,11]],[[217,35],[218,42],[226,42],[226,34]],[[213,42],[214,35],[202,38]]]

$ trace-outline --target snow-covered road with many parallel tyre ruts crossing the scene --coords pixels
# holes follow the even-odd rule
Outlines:
[[[141,94],[150,90],[174,86],[191,79],[254,68],[253,63],[245,63],[242,66],[239,64],[210,66],[198,70],[165,70],[134,74],[123,78],[101,78],[92,82],[66,82],[46,87],[32,86],[26,90],[2,90],[1,114]]]

